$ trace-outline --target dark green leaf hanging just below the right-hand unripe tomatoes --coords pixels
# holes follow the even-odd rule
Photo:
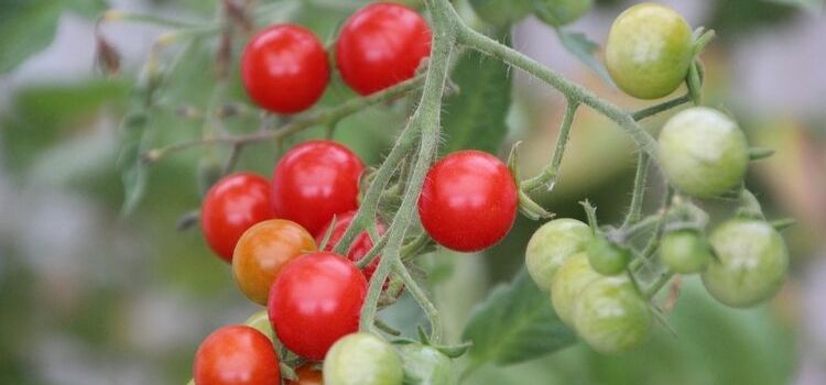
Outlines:
[[[470,359],[475,365],[507,365],[557,351],[574,343],[576,337],[554,312],[548,295],[522,270],[476,309],[463,340],[474,343]]]

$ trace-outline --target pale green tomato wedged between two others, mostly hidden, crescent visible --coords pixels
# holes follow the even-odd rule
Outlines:
[[[600,277],[601,275],[590,267],[586,253],[572,255],[556,271],[554,284],[551,287],[551,302],[565,324],[574,326],[574,305],[579,294],[591,280]]]

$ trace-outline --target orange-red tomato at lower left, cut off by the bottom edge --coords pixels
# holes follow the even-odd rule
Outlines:
[[[247,326],[229,326],[200,343],[193,376],[198,385],[278,384],[281,370],[267,336]]]

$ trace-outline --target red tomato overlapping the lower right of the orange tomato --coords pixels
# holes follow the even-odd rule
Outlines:
[[[287,264],[270,289],[270,322],[282,343],[319,361],[359,327],[367,279],[346,257],[315,252]]]

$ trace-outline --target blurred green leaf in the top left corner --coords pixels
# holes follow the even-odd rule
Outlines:
[[[8,73],[54,40],[64,11],[93,16],[102,0],[6,0],[0,10],[0,74]],[[93,44],[93,43],[89,43]]]

